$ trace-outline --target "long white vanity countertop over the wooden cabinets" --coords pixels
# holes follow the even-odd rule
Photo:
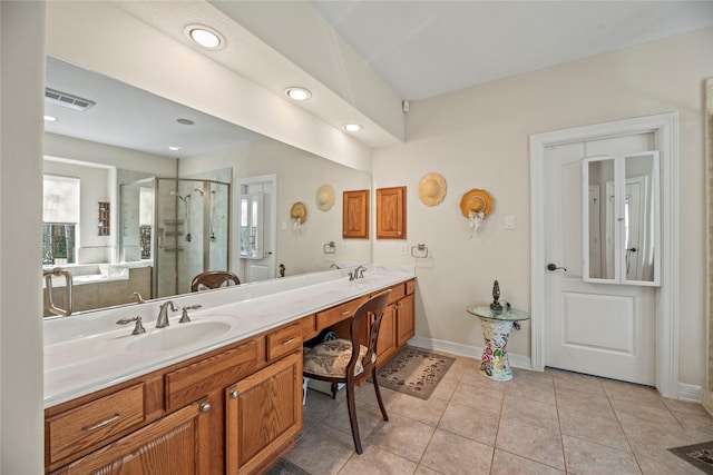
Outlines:
[[[155,328],[163,300],[123,306],[87,315],[45,321],[45,408],[90,394],[117,383],[240,342],[260,333],[340,305],[414,277],[412,266],[370,265],[363,279],[350,281],[349,269],[315,273],[285,279],[188,294],[172,298],[191,310],[193,321],[178,324],[180,311],[170,313],[168,328]],[[134,324],[118,326],[120,318],[141,316],[147,333],[130,335]],[[205,325],[208,321],[213,324]],[[148,338],[222,328],[217,336],[176,349],[152,348]],[[227,330],[224,330],[228,328]],[[164,333],[158,335],[158,333]],[[156,335],[154,335],[156,334]],[[207,335],[207,334],[206,334]],[[147,338],[146,342],[140,342]],[[140,342],[140,343],[139,343]],[[137,347],[143,349],[137,350]]]

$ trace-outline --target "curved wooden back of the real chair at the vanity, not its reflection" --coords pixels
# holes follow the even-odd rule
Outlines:
[[[358,379],[368,378],[371,376],[372,369],[377,365],[377,360],[373,355],[377,353],[377,340],[379,339],[379,328],[381,328],[381,319],[383,317],[383,313],[387,309],[387,304],[389,303],[389,296],[391,295],[391,289],[384,290],[380,294],[374,295],[361,307],[354,311],[354,316],[352,317],[351,324],[351,339],[352,339],[352,357],[346,365],[346,377],[353,377],[354,375],[354,366],[356,366],[356,360],[359,359],[359,348],[360,344],[367,347],[367,354],[364,355],[364,359],[362,360],[362,365],[364,366],[364,370],[356,376]],[[361,343],[361,329],[363,328],[362,321],[367,321],[367,342]],[[378,356],[378,355],[377,355]]]

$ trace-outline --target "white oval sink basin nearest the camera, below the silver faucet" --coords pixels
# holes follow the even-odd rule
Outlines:
[[[127,353],[160,353],[185,346],[209,343],[226,334],[233,325],[225,321],[189,321],[166,328],[154,328],[126,346]]]

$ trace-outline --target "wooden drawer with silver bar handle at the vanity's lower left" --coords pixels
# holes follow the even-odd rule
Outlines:
[[[47,420],[50,463],[144,422],[144,384],[127,387]]]

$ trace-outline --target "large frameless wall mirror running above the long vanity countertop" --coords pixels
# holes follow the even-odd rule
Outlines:
[[[248,284],[277,278],[280,265],[289,277],[370,260],[368,240],[341,235],[342,191],[370,188],[369,174],[55,58],[47,61],[47,88],[67,96],[46,100],[46,113],[57,120],[46,122],[45,174],[77,185],[79,209],[43,224],[42,265],[75,275],[72,314],[130,304],[134,293],[184,294],[203,270],[227,269]],[[89,107],[60,103],[70,100]],[[107,116],[111,122],[104,122]],[[270,184],[255,194],[265,177]],[[316,191],[325,184],[335,200],[321,210]],[[47,202],[62,201],[49,195]],[[260,220],[252,219],[263,228],[261,255],[271,260],[257,277],[246,273],[241,254],[246,195],[263,205]],[[309,210],[299,230],[290,217],[297,201]],[[100,206],[110,211],[109,231],[99,229]],[[330,241],[336,255],[324,253]],[[55,304],[65,308],[62,279],[52,278]]]

